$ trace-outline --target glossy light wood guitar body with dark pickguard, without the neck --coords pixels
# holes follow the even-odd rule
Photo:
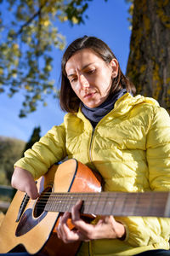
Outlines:
[[[37,180],[37,188],[41,195],[48,191],[100,192],[101,183],[88,166],[71,159],[52,166],[45,176]],[[44,201],[42,208],[37,210],[41,196],[37,200],[23,201],[25,196],[25,193],[17,191],[8,208],[0,227],[0,253],[20,252],[24,249],[40,256],[76,255],[81,244],[79,241],[65,244],[58,239],[57,226],[61,212],[44,211]],[[19,211],[20,207],[22,212]],[[73,228],[71,224],[70,228]]]

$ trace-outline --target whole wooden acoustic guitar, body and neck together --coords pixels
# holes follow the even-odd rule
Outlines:
[[[21,252],[48,256],[74,256],[81,242],[58,239],[62,212],[83,201],[81,214],[170,217],[168,192],[101,192],[101,179],[75,159],[52,166],[37,180],[40,197],[31,200],[17,191],[0,227],[0,253]],[[74,226],[68,223],[70,229]]]

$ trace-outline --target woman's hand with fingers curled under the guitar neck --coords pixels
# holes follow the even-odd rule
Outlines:
[[[78,201],[76,206],[72,208],[71,213],[65,212],[59,218],[58,237],[65,243],[73,241],[90,241],[93,239],[116,239],[125,235],[123,224],[116,222],[112,216],[103,216],[97,224],[87,224],[80,218],[80,208],[82,201]],[[74,230],[70,230],[67,225],[67,219],[71,218],[72,224],[75,225]]]

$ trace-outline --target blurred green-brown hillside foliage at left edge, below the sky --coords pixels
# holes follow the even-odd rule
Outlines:
[[[0,137],[0,184],[10,184],[14,162],[20,159],[25,145],[15,138]]]

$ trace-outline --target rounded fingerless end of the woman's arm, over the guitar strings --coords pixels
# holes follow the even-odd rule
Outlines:
[[[14,189],[19,189],[20,191],[26,192],[31,199],[37,199],[39,196],[37,192],[37,185],[31,175],[31,172],[28,172],[20,167],[14,168],[11,185],[14,187]]]

